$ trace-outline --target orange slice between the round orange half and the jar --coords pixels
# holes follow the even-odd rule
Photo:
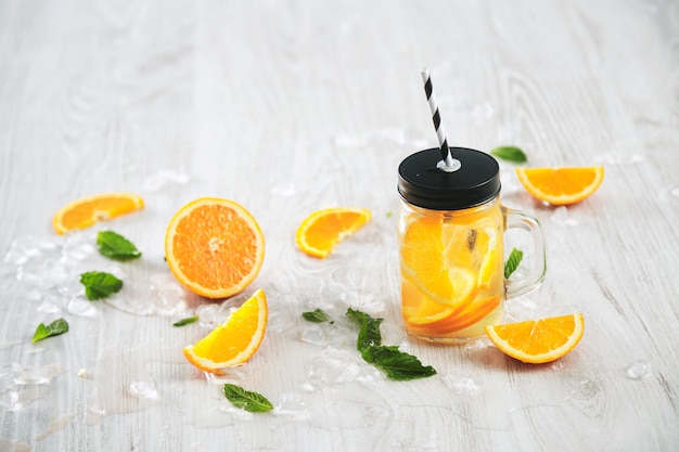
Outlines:
[[[334,246],[370,221],[370,210],[333,207],[312,212],[297,228],[297,246],[309,256],[325,258]]]

